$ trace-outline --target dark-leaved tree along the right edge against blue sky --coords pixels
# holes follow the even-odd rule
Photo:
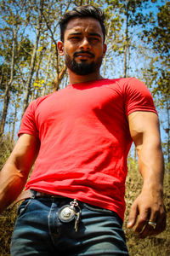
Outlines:
[[[156,86],[152,93],[156,96],[156,105],[163,108],[163,129],[166,132],[167,139],[164,143],[164,152],[167,155],[167,163],[170,163],[170,2],[159,7],[157,19],[153,20],[153,30],[144,31],[144,37],[147,44],[150,44],[155,51],[156,57],[153,61],[153,69],[156,69],[155,75]],[[165,118],[165,116],[167,117]]]

